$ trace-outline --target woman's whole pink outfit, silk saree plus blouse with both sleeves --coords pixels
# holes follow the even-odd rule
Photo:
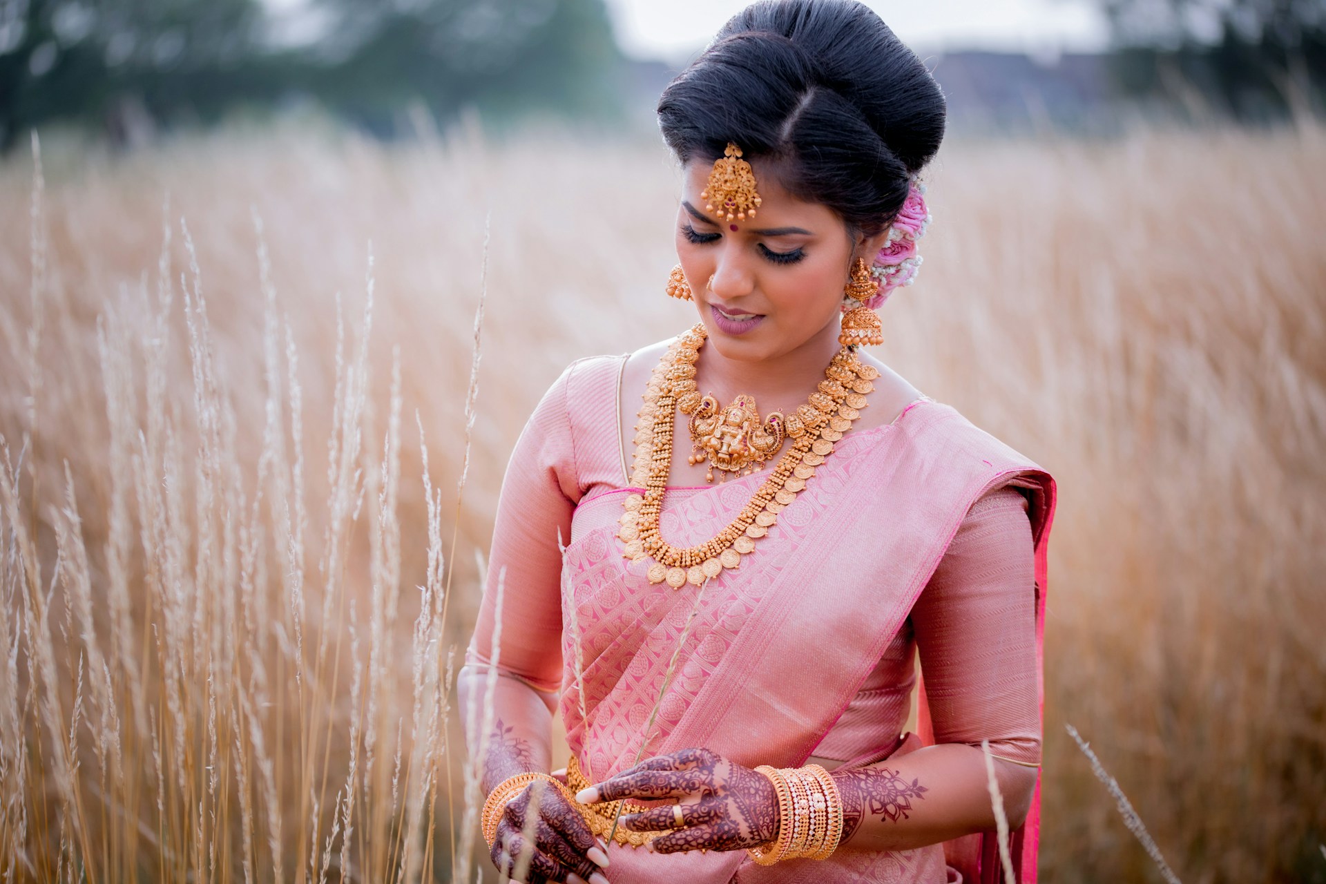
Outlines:
[[[627,485],[621,439],[619,403],[636,400],[621,395],[625,359],[572,363],[540,402],[507,470],[488,571],[489,590],[499,574],[505,580],[497,665],[561,692],[568,741],[589,777],[630,767],[642,744],[644,758],[705,746],[752,767],[810,755],[880,761],[903,742],[915,652],[923,737],[988,740],[1001,758],[1040,762],[1048,473],[920,399],[888,425],[847,432],[756,551],[696,602],[695,586],[651,584],[615,537],[623,497],[639,490]],[[674,545],[713,537],[762,480],[670,488],[663,535]],[[485,591],[468,661],[492,663],[493,624]],[[1034,880],[1037,831],[1033,806],[1014,838],[1020,881]],[[967,880],[989,877],[993,855],[979,838],[948,854]],[[611,860],[614,884],[944,881],[953,872],[939,844],[842,848],[773,867],[744,851],[614,847]]]

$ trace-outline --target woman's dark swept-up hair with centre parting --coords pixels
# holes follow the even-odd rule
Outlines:
[[[875,235],[944,137],[920,58],[855,0],[761,0],[663,90],[663,138],[684,164],[735,142],[798,199]]]

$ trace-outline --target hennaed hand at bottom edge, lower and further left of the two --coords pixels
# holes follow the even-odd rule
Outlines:
[[[524,831],[533,814],[537,819],[533,823],[533,844],[529,844]],[[516,879],[513,872],[526,851],[528,871],[522,879]],[[609,884],[598,871],[607,865],[606,846],[594,838],[585,818],[561,790],[546,781],[529,783],[508,802],[497,822],[492,860],[497,871],[526,884]]]

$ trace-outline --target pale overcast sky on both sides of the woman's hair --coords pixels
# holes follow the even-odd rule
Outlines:
[[[682,61],[747,0],[607,0],[618,40],[638,58]],[[1101,49],[1106,24],[1094,0],[866,0],[918,52]]]

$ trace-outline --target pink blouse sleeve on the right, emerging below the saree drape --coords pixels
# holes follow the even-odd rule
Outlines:
[[[972,505],[912,608],[936,742],[1041,762],[1036,561],[1028,502],[1000,488]]]

